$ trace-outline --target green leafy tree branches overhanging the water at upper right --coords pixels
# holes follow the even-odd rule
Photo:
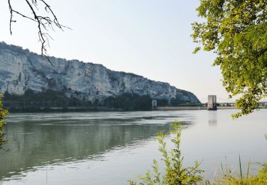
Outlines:
[[[216,53],[229,97],[241,95],[233,117],[253,112],[267,97],[267,1],[201,0],[197,11],[205,21],[192,23],[194,42]]]

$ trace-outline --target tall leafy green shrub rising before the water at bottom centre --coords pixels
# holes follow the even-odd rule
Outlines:
[[[151,172],[147,171],[145,176],[138,176],[141,180],[139,184],[197,184],[197,182],[201,181],[201,173],[204,171],[199,169],[199,162],[195,162],[194,166],[183,166],[184,157],[182,157],[180,149],[182,126],[180,123],[174,123],[172,126],[174,127],[172,133],[175,135],[172,142],[175,144],[175,148],[172,149],[170,153],[167,151],[166,142],[164,142],[164,133],[159,132],[159,152],[162,153],[165,174],[161,176],[159,172],[159,164],[154,160],[152,168],[155,174],[152,176]],[[137,184],[137,182],[130,181],[130,184]]]

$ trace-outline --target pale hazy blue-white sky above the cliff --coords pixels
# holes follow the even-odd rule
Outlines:
[[[23,1],[11,1],[27,12]],[[73,31],[51,33],[51,56],[101,63],[189,90],[202,102],[209,94],[227,99],[213,53],[192,54],[191,23],[200,20],[199,0],[48,1]],[[0,1],[0,41],[40,53],[36,24],[15,16],[9,33],[9,6]]]

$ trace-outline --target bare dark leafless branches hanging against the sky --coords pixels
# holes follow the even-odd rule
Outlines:
[[[38,28],[38,38],[41,43],[41,55],[45,56],[47,60],[51,63],[47,56],[47,48],[49,47],[49,40],[52,39],[49,35],[48,31],[54,28],[60,28],[63,31],[63,28],[68,28],[67,26],[63,26],[59,23],[56,14],[51,9],[51,6],[46,3],[44,0],[24,0],[25,4],[28,6],[29,11],[31,12],[31,16],[21,13],[21,11],[17,11],[14,9],[13,4],[11,4],[11,0],[8,0],[9,3],[9,12],[10,12],[10,20],[9,20],[9,30],[12,35],[11,25],[15,23],[14,14],[18,16],[22,16],[23,18],[27,18],[30,21],[36,22]],[[41,10],[44,10],[46,13],[40,13]],[[40,13],[40,14],[38,14]],[[53,63],[51,63],[53,65]]]

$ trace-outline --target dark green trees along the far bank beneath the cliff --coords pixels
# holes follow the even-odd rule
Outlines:
[[[42,93],[34,93],[33,90],[26,90],[22,96],[4,93],[4,107],[9,110],[69,110],[69,109],[91,109],[91,110],[151,110],[152,98],[149,95],[137,95],[134,93],[122,93],[115,97],[107,97],[100,101],[98,99],[93,102],[86,100],[78,100],[75,97],[66,97],[63,92],[47,90]],[[165,105],[190,105],[194,102],[180,100],[179,97],[172,100],[159,99],[158,106]]]

